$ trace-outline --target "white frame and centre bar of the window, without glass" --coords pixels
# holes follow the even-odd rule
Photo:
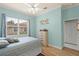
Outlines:
[[[17,32],[17,34],[16,35],[8,35],[7,34],[7,18],[13,18],[13,17],[8,17],[8,16],[6,16],[6,37],[20,37],[20,36],[22,36],[22,37],[25,37],[25,36],[29,36],[29,23],[30,23],[30,21],[29,20],[26,20],[27,21],[27,34],[21,34],[20,35],[20,33],[19,33],[19,20],[24,20],[24,19],[18,19],[18,18],[15,18],[15,19],[18,19],[18,25],[17,25],[17,27],[18,27],[18,32]]]

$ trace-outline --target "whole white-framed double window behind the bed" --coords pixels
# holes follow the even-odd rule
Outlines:
[[[29,21],[6,17],[6,36],[27,36]]]

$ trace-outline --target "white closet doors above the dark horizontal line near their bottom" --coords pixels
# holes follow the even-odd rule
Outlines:
[[[77,43],[77,28],[76,28],[77,21],[68,21],[65,22],[65,40],[64,42],[70,44]]]

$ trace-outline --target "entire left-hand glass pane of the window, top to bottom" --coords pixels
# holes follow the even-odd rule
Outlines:
[[[18,32],[18,19],[7,17],[6,22],[7,22],[7,26],[6,26],[7,35],[17,35],[17,32]]]

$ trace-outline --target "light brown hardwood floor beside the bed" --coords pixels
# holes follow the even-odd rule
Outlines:
[[[69,48],[60,50],[54,47],[42,47],[42,54],[45,56],[79,56],[79,51]]]

